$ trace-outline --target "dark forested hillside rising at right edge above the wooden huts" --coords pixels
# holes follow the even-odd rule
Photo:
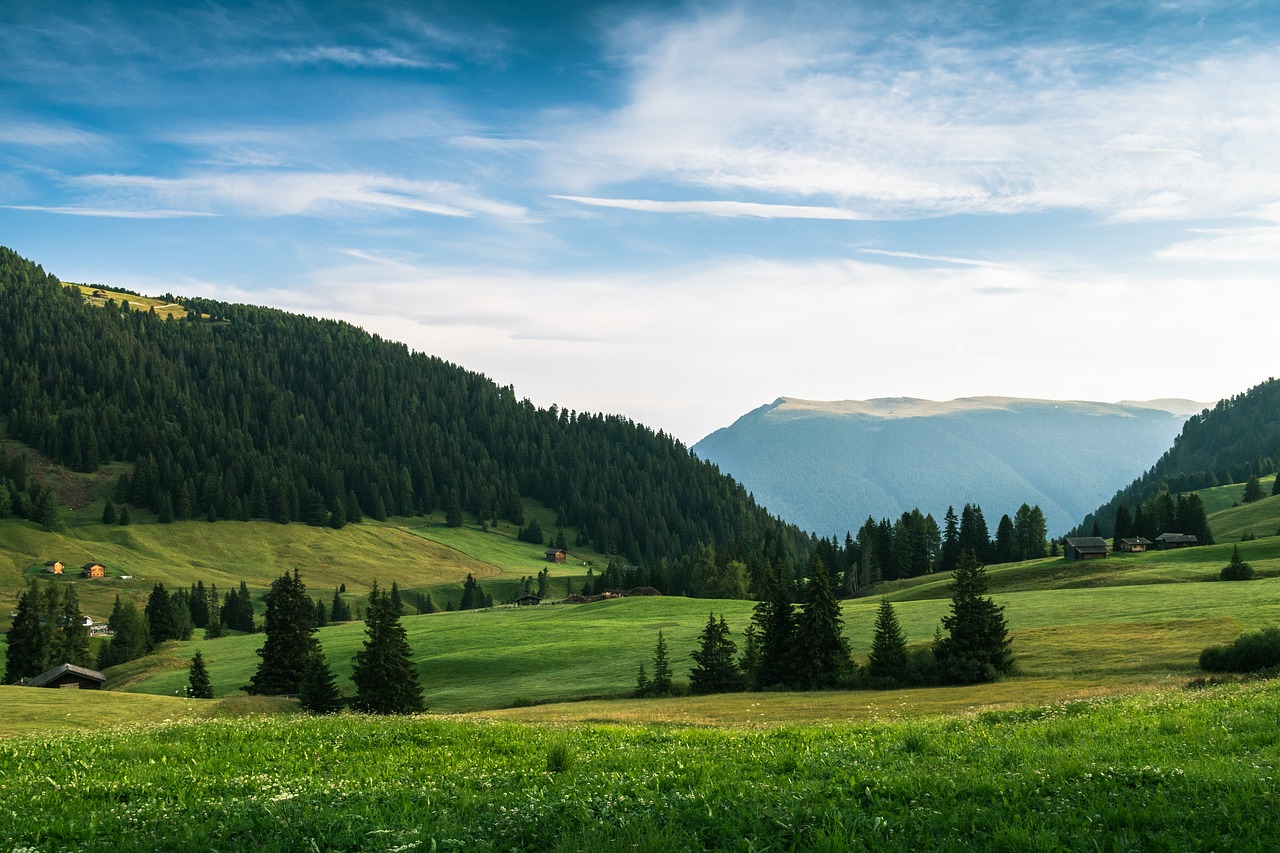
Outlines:
[[[1174,446],[1151,469],[1108,502],[1084,516],[1074,530],[1088,534],[1094,524],[1111,535],[1117,511],[1132,515],[1162,492],[1245,483],[1270,474],[1280,460],[1280,380],[1267,379],[1242,394],[1221,400],[1212,409],[1193,415]]]

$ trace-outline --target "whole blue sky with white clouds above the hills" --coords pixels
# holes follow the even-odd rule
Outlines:
[[[4,0],[0,32],[0,245],[64,280],[348,320],[689,444],[781,396],[1275,374],[1271,1]]]

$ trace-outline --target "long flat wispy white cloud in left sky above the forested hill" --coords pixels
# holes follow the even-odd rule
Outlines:
[[[253,172],[207,173],[184,178],[92,174],[67,178],[81,190],[111,197],[113,209],[155,204],[209,213],[256,216],[332,216],[353,210],[424,213],[442,216],[520,219],[525,210],[474,193],[467,187],[371,173]]]

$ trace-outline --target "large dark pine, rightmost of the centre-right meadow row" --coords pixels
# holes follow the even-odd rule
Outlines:
[[[947,680],[991,681],[1012,663],[1004,608],[984,598],[986,592],[986,570],[972,551],[963,552],[952,574],[951,613],[942,619],[950,635],[934,644]]]

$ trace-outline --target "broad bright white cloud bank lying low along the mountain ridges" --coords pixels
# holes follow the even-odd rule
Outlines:
[[[1265,378],[1265,336],[1165,366],[1142,328],[1178,328],[1188,306],[1198,328],[1229,328],[1239,305],[1280,310],[1267,277],[758,259],[532,275],[349,257],[253,298],[351,320],[539,405],[621,412],[689,443],[778,396],[1216,400]]]

